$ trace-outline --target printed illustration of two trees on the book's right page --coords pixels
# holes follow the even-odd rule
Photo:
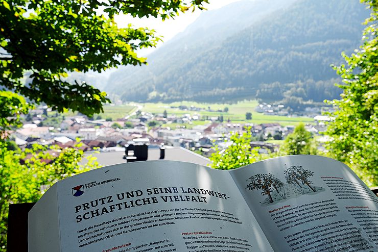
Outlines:
[[[246,189],[261,190],[262,195],[267,195],[268,197],[261,202],[262,205],[325,191],[324,188],[313,185],[310,180],[314,172],[304,169],[301,165],[293,165],[287,168],[285,164],[284,175],[286,184],[271,173],[254,174],[247,180],[250,183],[247,184]]]

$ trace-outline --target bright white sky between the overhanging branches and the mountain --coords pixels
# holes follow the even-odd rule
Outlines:
[[[210,4],[206,4],[207,10],[216,10],[228,4],[239,2],[240,0],[209,0]],[[166,19],[161,21],[158,18],[133,18],[131,15],[119,15],[115,17],[119,27],[127,27],[128,23],[132,23],[135,28],[137,27],[148,27],[149,29],[154,29],[155,35],[163,36],[163,41],[167,42],[173,38],[179,32],[185,30],[185,28],[194,22],[202,13],[200,10],[196,10],[194,13],[187,11],[185,13],[180,13],[175,19]],[[161,45],[162,43],[159,43]],[[159,45],[156,47],[158,48]],[[139,56],[146,56],[153,52],[156,48],[148,48],[143,51],[138,52]]]

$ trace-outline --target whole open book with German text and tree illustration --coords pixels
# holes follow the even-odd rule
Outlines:
[[[57,182],[29,251],[378,251],[378,198],[343,163],[287,156],[234,170],[176,161]]]

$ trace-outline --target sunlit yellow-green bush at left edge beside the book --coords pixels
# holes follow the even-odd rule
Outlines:
[[[6,251],[9,204],[37,201],[55,182],[97,168],[96,159],[80,165],[83,151],[59,149],[35,144],[21,151],[10,150],[8,142],[0,141],[0,251]],[[53,156],[52,152],[58,154]],[[46,163],[46,160],[52,160]],[[23,162],[21,162],[23,161]],[[24,164],[21,164],[24,163]]]

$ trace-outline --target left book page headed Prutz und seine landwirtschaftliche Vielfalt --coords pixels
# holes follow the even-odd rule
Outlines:
[[[58,182],[62,251],[273,251],[228,171],[175,161]]]

